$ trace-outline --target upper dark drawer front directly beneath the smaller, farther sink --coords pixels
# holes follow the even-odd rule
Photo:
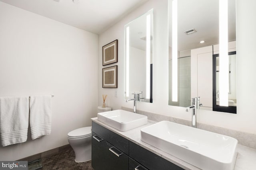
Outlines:
[[[120,135],[106,129],[98,123],[92,122],[92,131],[108,141],[111,145],[114,145],[117,149],[121,150],[125,154],[129,154],[129,140],[121,137]]]

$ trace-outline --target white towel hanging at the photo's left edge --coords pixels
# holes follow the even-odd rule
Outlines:
[[[0,136],[3,147],[27,141],[28,116],[28,96],[0,97]]]

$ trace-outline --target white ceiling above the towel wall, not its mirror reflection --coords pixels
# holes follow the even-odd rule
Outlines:
[[[0,1],[100,34],[147,0],[76,0],[76,3],[72,0]]]

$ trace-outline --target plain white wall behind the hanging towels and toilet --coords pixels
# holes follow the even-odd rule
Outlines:
[[[68,144],[69,131],[96,117],[98,35],[3,2],[0,25],[0,96],[54,94],[51,135],[0,147],[0,160]]]

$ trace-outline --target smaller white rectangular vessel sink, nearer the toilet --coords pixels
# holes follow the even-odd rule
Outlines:
[[[98,113],[98,120],[119,131],[128,131],[148,123],[147,116],[124,110]]]

